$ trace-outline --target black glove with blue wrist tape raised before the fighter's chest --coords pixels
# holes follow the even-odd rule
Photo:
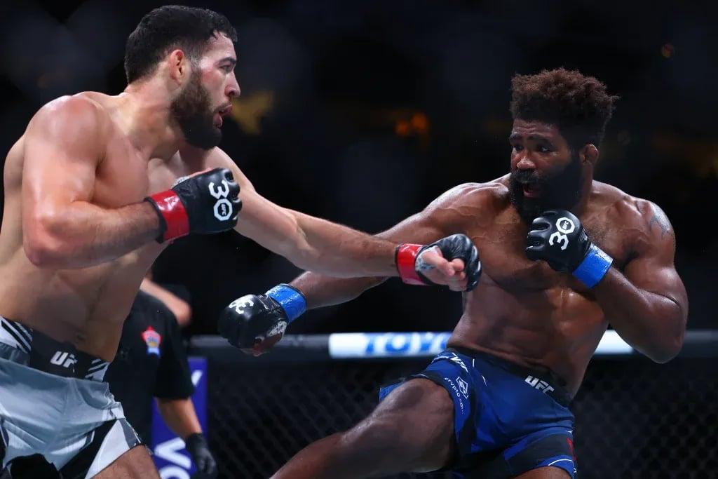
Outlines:
[[[605,276],[613,259],[589,240],[579,218],[566,210],[548,210],[533,220],[526,256],[543,260],[554,271],[570,271],[587,287]]]

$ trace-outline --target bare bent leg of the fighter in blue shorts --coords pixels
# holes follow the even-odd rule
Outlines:
[[[430,471],[454,455],[454,403],[423,378],[401,384],[352,429],[299,451],[274,479],[369,478]]]

